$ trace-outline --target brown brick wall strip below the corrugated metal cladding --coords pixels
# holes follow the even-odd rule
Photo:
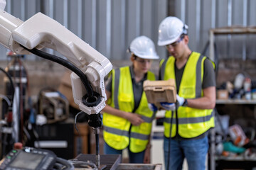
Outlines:
[[[7,62],[0,62],[1,68],[6,68]],[[37,62],[26,61],[23,62],[28,72],[29,88],[31,96],[37,96],[38,92],[45,87],[52,87],[58,89],[61,77],[68,70],[60,64],[53,63],[46,60]],[[113,68],[130,65],[129,60],[112,61]],[[250,77],[252,81],[256,81],[256,60],[220,60],[218,64],[217,86],[223,84],[225,81],[233,82],[238,73],[243,73]],[[151,71],[157,76],[159,74],[159,61],[154,61],[151,66]],[[3,80],[4,73],[0,72],[0,79]],[[4,81],[0,83],[0,94],[4,94]]]

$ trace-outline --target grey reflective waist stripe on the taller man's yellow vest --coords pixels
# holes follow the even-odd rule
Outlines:
[[[213,117],[213,111],[210,115],[206,115],[198,118],[178,118],[178,124],[189,124],[189,123],[204,123],[210,120]],[[171,123],[171,118],[165,118],[165,123]],[[176,118],[173,118],[173,124],[176,124]]]

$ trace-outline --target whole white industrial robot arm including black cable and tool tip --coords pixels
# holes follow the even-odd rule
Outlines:
[[[98,113],[105,107],[107,97],[104,77],[111,71],[112,64],[100,52],[52,18],[36,13],[23,22],[4,11],[5,4],[5,0],[0,1],[1,45],[16,54],[33,53],[73,71],[70,75],[73,98],[82,111],[80,113],[88,114],[88,124],[95,129],[96,164],[100,167],[98,135],[102,117]],[[43,52],[43,48],[59,52],[66,60]]]

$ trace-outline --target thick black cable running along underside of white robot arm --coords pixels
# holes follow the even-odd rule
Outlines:
[[[21,45],[21,47],[23,47],[23,46]],[[77,74],[78,77],[80,77],[80,79],[82,81],[82,84],[85,85],[85,89],[87,91],[88,96],[89,97],[93,96],[92,86],[90,85],[89,81],[87,80],[87,77],[85,76],[85,74],[80,69],[78,69],[78,67],[75,67],[74,64],[72,64],[71,62],[68,62],[67,60],[64,60],[63,58],[60,58],[60,57],[55,56],[55,55],[50,55],[50,54],[48,54],[46,52],[43,52],[41,50],[38,50],[36,48],[34,48],[32,50],[29,50],[26,47],[23,47],[23,48],[28,50],[28,52],[33,53],[34,55],[38,55],[39,57],[42,57],[46,60],[57,62],[58,64],[61,64],[64,67],[66,67],[66,68],[70,69],[71,71],[75,72],[75,74]]]

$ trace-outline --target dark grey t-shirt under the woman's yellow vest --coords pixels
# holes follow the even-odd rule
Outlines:
[[[132,88],[133,88],[133,92],[134,92],[134,110],[136,110],[139,107],[139,103],[142,98],[143,82],[146,80],[147,74],[145,74],[144,78],[137,83],[135,81],[133,67],[130,66],[129,69],[130,69],[130,73],[131,73],[131,77],[132,77]],[[110,92],[112,91],[112,75],[105,82],[105,86],[106,86],[107,91],[110,91]]]

